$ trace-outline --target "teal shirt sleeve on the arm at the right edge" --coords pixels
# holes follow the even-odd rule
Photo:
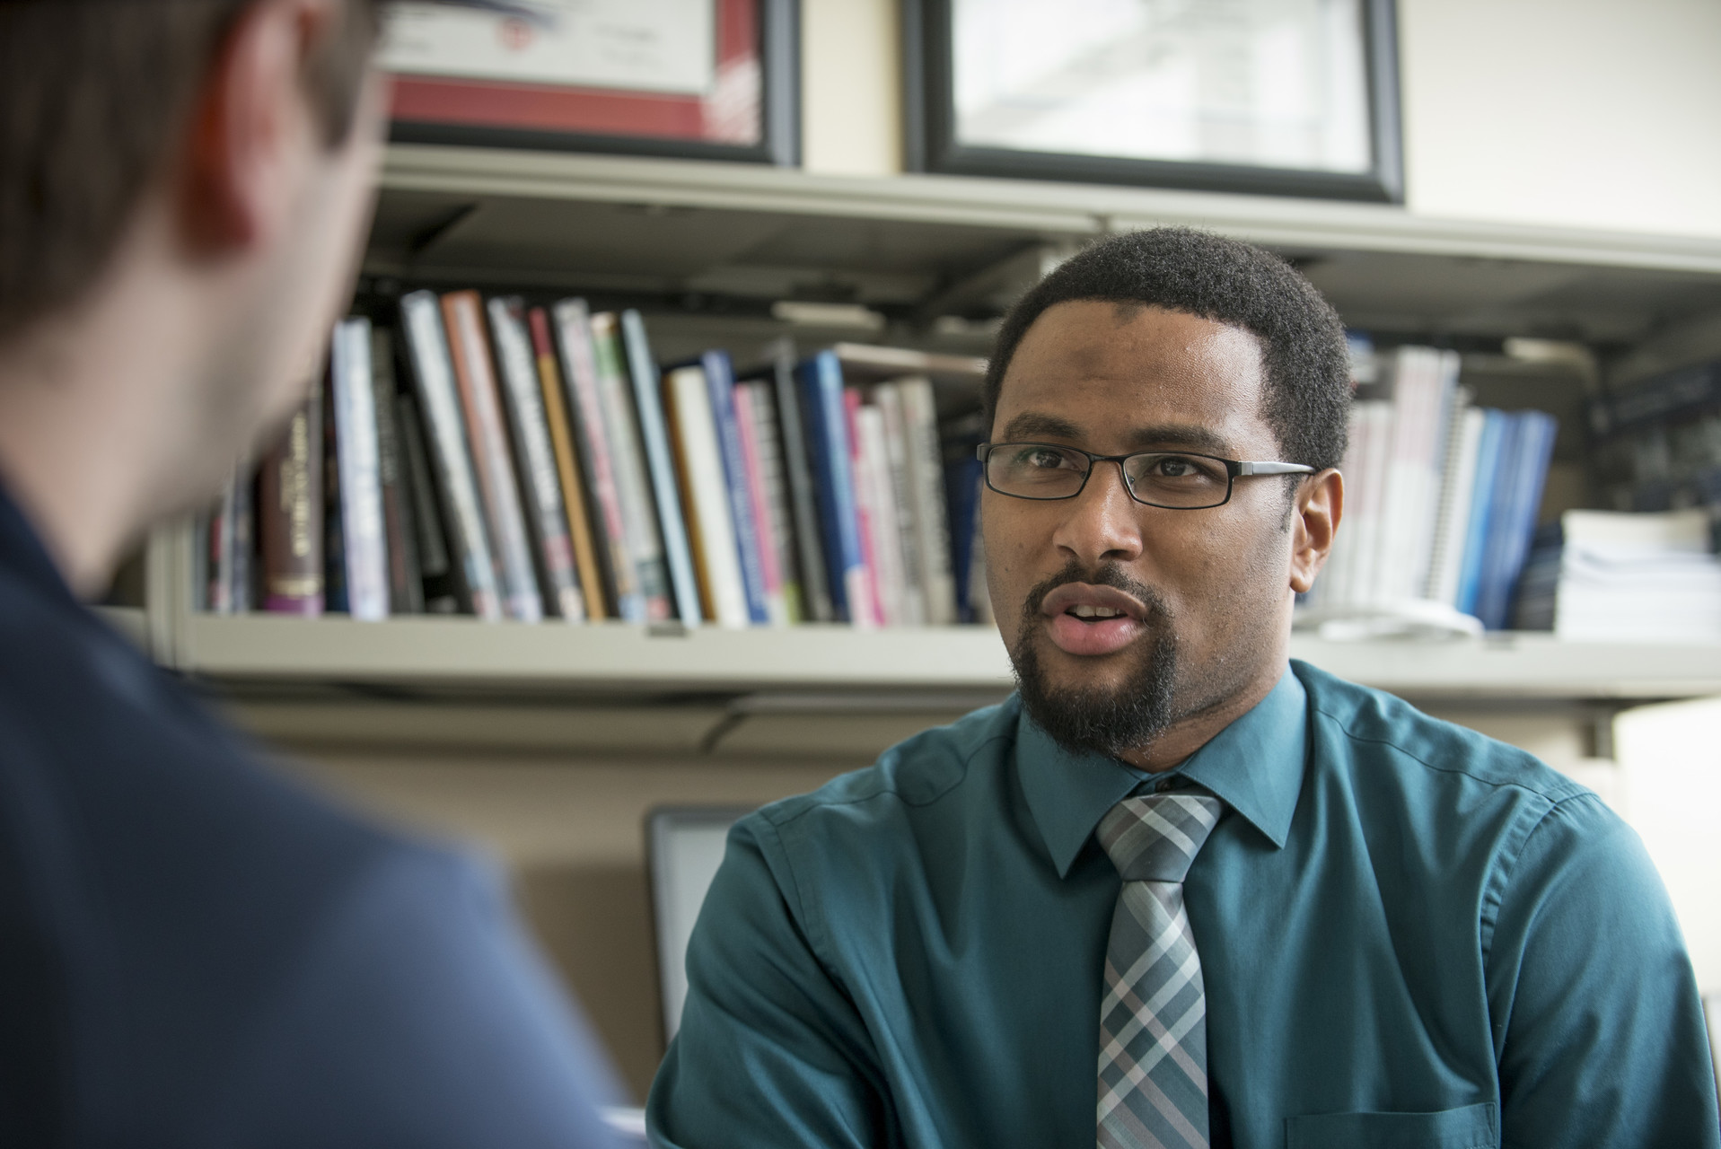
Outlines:
[[[1506,881],[1489,1001],[1502,1144],[1721,1144],[1702,1003],[1637,834],[1594,795],[1558,803]]]

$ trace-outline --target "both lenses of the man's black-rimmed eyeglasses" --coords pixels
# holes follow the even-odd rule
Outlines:
[[[1079,451],[1048,444],[1000,444],[986,456],[986,483],[1017,499],[1069,499],[1093,463]],[[1231,473],[1200,454],[1143,452],[1124,459],[1124,482],[1141,502],[1208,507],[1231,494]]]

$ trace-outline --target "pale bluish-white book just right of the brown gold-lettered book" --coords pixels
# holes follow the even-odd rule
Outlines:
[[[346,609],[361,623],[379,623],[389,618],[389,556],[382,528],[382,470],[377,447],[377,392],[370,365],[370,320],[341,322],[334,330],[330,358]]]

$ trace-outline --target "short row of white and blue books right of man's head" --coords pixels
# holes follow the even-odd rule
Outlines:
[[[1454,351],[1353,341],[1344,526],[1303,619],[1504,630],[1535,537],[1558,421],[1478,408]]]

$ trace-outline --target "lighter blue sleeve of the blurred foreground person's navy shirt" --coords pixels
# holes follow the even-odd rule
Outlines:
[[[497,876],[394,846],[306,946],[198,1144],[614,1146],[606,1058]]]

